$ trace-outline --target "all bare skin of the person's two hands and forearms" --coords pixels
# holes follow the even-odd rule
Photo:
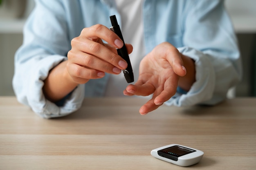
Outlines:
[[[43,93],[52,102],[65,97],[78,84],[102,78],[105,73],[117,75],[127,67],[126,61],[116,51],[116,48],[123,46],[123,42],[101,24],[84,28],[71,41],[71,46],[72,49],[67,54],[68,60],[54,67],[44,81]],[[130,54],[132,45],[126,44],[126,48]],[[127,96],[153,94],[152,99],[139,110],[141,115],[145,115],[170,99],[177,86],[189,91],[194,82],[194,61],[182,55],[170,43],[164,42],[141,60],[138,81],[134,85],[128,85],[123,93]]]

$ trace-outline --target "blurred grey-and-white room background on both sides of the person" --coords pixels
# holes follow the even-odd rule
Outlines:
[[[22,27],[34,0],[0,0],[0,95],[14,95],[14,54],[22,44]],[[230,97],[256,96],[256,0],[225,0],[243,60],[243,79]]]

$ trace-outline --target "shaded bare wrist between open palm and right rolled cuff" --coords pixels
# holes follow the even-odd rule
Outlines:
[[[195,61],[183,54],[181,54],[181,57],[186,68],[186,75],[180,77],[178,86],[185,91],[189,91],[195,82]]]

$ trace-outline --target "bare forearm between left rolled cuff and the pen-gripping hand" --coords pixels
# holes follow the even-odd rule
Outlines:
[[[54,67],[44,81],[43,93],[47,99],[57,102],[76,88],[66,69],[67,61],[61,62]]]

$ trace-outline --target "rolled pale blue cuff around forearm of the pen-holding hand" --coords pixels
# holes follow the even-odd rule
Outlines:
[[[31,109],[41,117],[52,118],[68,115],[78,110],[83,102],[84,84],[77,86],[74,91],[66,97],[61,106],[50,102],[43,95],[43,81],[48,76],[49,71],[63,60],[67,60],[67,57],[51,55],[41,59],[40,62],[37,62],[37,64],[31,68],[33,73],[31,73],[31,77],[29,78],[31,82],[29,82],[27,100]]]

